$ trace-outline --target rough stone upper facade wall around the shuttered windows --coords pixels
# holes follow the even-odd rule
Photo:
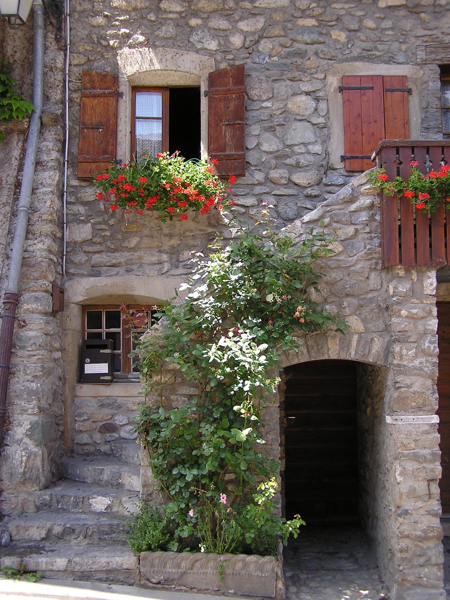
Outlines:
[[[71,15],[72,173],[83,68],[117,73],[118,53],[136,48],[197,52],[213,58],[216,68],[245,63],[247,176],[233,193],[250,220],[259,218],[261,202],[274,205],[280,226],[350,181],[351,174],[331,168],[329,160],[329,124],[341,119],[329,105],[332,69],[357,61],[363,68],[384,64],[397,73],[416,64],[418,41],[439,43],[446,35],[442,0],[161,0],[150,6],[142,0],[73,0]],[[418,73],[415,136],[440,137],[439,70],[421,65]],[[190,232],[170,229],[173,241],[183,237],[181,245],[170,247],[155,232],[166,232],[157,221],[131,217],[125,224],[107,217],[90,185],[73,175],[70,184],[70,277],[127,269],[167,273],[183,262]]]

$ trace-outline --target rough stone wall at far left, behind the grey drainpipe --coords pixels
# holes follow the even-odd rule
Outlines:
[[[23,28],[3,27],[4,47],[17,69],[20,92],[30,98],[32,18]],[[42,126],[19,284],[19,326],[13,341],[7,430],[0,461],[1,510],[7,515],[36,510],[34,492],[59,476],[64,452],[61,329],[58,314],[52,311],[52,283],[61,283],[64,51],[56,46],[55,30],[47,19],[44,61]],[[4,142],[2,152],[8,151],[9,143]],[[7,256],[16,209],[11,188],[9,185],[5,199],[11,212]],[[4,263],[3,286],[7,277],[8,265]]]

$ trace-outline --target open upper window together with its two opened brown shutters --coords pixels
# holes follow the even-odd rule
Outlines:
[[[219,162],[218,175],[245,175],[244,65],[209,73],[207,100],[200,88],[185,86],[132,89],[131,152],[152,155],[179,150],[200,157],[200,106],[208,102],[208,157]],[[83,71],[78,176],[91,179],[116,160],[118,77]]]

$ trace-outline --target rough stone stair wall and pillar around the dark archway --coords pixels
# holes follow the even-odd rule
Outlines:
[[[359,367],[365,522],[392,598],[445,598],[439,435],[427,419],[437,409],[436,271],[380,268],[376,196],[364,179],[288,227],[301,236],[322,219],[340,238],[337,254],[323,266],[322,301],[341,311],[349,331],[305,338],[299,356],[290,353],[286,364],[341,358],[374,365]],[[404,415],[425,422],[389,422]]]

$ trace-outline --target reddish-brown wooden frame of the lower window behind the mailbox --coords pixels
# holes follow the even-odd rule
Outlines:
[[[130,353],[132,351],[132,332],[133,329],[131,327],[130,321],[127,318],[127,313],[130,314],[130,311],[140,311],[140,310],[148,310],[151,311],[151,319],[153,319],[153,313],[157,312],[158,306],[154,304],[86,304],[83,305],[82,310],[82,339],[86,340],[86,333],[89,331],[100,331],[98,329],[87,329],[86,327],[86,314],[89,310],[94,311],[103,311],[103,313],[107,310],[119,310],[121,311],[121,349],[120,351],[113,351],[114,354],[118,354],[120,352],[121,356],[121,371],[113,371],[113,380],[132,380],[139,379],[139,371],[133,371],[133,359],[130,358]],[[104,329],[104,314],[102,316],[102,329],[101,333],[104,331],[109,331]],[[117,331],[117,329],[112,328],[110,331]],[[102,337],[101,339],[105,339]]]

